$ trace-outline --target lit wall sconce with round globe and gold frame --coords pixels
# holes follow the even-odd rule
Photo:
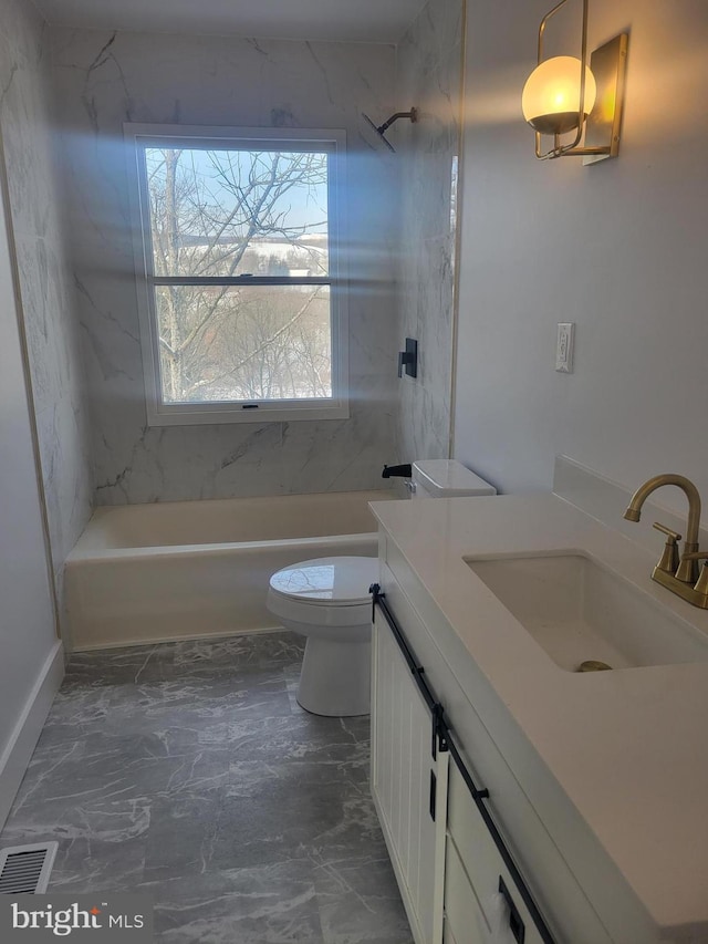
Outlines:
[[[548,21],[568,0],[561,0],[545,14],[539,27],[539,64],[533,70],[521,96],[521,110],[535,131],[535,156],[582,156],[583,164],[616,157],[620,149],[620,122],[624,101],[624,76],[627,61],[627,34],[621,33],[601,45],[587,63],[587,0],[583,2],[581,58],[558,55],[543,59],[543,34]],[[563,144],[561,135],[575,131],[572,142]],[[581,139],[585,139],[581,146]],[[541,135],[553,136],[553,147],[545,153]]]

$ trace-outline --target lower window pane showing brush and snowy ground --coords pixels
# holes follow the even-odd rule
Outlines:
[[[327,286],[158,286],[164,403],[332,396]]]

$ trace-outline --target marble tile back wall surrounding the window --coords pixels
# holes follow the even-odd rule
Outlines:
[[[53,31],[101,505],[379,484],[395,458],[397,166],[360,113],[392,107],[385,45]],[[122,124],[344,127],[352,263],[348,421],[147,428]]]

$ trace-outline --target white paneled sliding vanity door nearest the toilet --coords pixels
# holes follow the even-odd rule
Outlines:
[[[430,710],[379,611],[372,651],[372,793],[416,944],[441,944],[448,755],[433,757]]]

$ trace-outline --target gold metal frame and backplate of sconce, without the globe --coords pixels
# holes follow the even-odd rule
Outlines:
[[[543,38],[549,20],[565,6],[568,0],[561,0],[541,20],[539,25],[538,66],[543,62]],[[577,103],[577,127],[574,139],[563,144],[561,138],[565,133],[559,129],[548,129],[552,122],[544,122],[543,132],[535,131],[535,156],[539,160],[554,157],[583,157],[583,164],[595,164],[607,157],[616,157],[620,151],[620,125],[624,103],[624,83],[627,61],[628,37],[620,33],[614,39],[601,45],[590,55],[587,61],[587,6],[589,0],[582,0],[583,21],[581,28],[581,62],[580,62],[580,94]],[[585,112],[586,68],[590,68],[596,84],[596,95],[590,113]],[[529,122],[532,124],[531,122]],[[532,124],[533,126],[533,124]],[[575,123],[573,122],[573,127]],[[543,134],[553,135],[553,147],[543,151]],[[585,139],[581,145],[583,139]]]

